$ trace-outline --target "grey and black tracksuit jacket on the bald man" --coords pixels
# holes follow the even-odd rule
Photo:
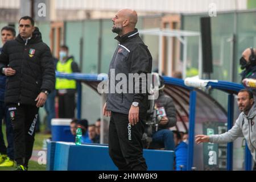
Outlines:
[[[129,93],[129,73],[151,73],[152,69],[152,56],[147,46],[142,42],[139,37],[138,30],[120,36],[115,37],[119,44],[115,49],[112,61],[109,66],[109,81],[115,78],[110,78],[110,69],[114,69],[115,76],[118,73],[123,73],[127,77],[127,90],[126,93],[110,93],[111,86],[116,86],[120,80],[113,81],[114,85],[109,82],[109,94],[107,95],[107,110],[114,111],[116,113],[129,114],[129,110],[132,102],[139,102],[139,117],[141,119],[146,118],[146,111],[148,109],[148,90],[146,93]],[[144,83],[145,84],[145,83]],[[140,88],[142,88],[142,81],[139,82]],[[133,87],[135,89],[135,85]],[[141,89],[140,89],[141,90]]]

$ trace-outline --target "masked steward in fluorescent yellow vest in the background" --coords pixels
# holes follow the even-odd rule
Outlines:
[[[68,47],[60,47],[60,60],[57,62],[56,71],[61,73],[80,72],[73,56],[69,56]],[[65,78],[56,78],[57,96],[59,98],[59,118],[75,117],[76,81]]]

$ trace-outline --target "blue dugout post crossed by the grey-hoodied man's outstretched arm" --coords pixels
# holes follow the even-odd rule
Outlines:
[[[229,94],[228,96],[228,130],[233,126],[234,119],[234,96]],[[233,170],[233,142],[228,143],[227,155],[226,155],[226,170]]]

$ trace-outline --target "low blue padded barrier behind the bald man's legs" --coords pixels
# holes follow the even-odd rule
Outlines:
[[[54,146],[54,147],[53,147]],[[102,144],[76,146],[68,142],[48,143],[47,169],[53,171],[112,171],[117,170]],[[143,150],[149,171],[173,170],[174,151]]]

